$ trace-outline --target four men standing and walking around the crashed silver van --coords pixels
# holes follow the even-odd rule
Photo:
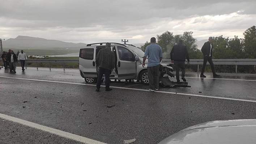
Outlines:
[[[213,56],[213,44],[212,44],[212,37],[209,37],[208,42],[205,42],[204,45],[201,48],[201,51],[204,56],[204,63],[202,66],[201,78],[206,78],[204,75],[204,70],[206,67],[207,61],[209,62],[213,77],[217,78],[220,77],[220,75],[216,74],[216,71],[214,70],[214,65],[212,61]],[[149,79],[149,91],[158,91],[159,90],[159,66],[163,58],[163,52],[162,48],[156,44],[156,39],[152,37],[150,39],[150,45],[148,45],[145,49],[145,54],[143,57],[142,66],[145,66],[146,58],[148,57],[148,79]],[[101,87],[102,77],[103,74],[105,74],[105,81],[106,81],[106,91],[111,91],[112,88],[110,88],[110,74],[115,68],[115,56],[114,52],[111,51],[111,43],[106,43],[106,48],[101,49],[96,57],[96,66],[99,67],[99,73],[98,73],[98,79],[97,79],[97,86],[96,91],[99,91]],[[190,64],[189,61],[189,54],[186,45],[183,44],[183,40],[179,39],[178,44],[175,44],[172,47],[171,53],[171,62],[174,63],[175,71],[176,71],[176,80],[179,83],[180,77],[179,77],[179,71],[182,70],[182,80],[183,82],[186,82],[185,79],[185,59],[187,58],[188,65]]]

